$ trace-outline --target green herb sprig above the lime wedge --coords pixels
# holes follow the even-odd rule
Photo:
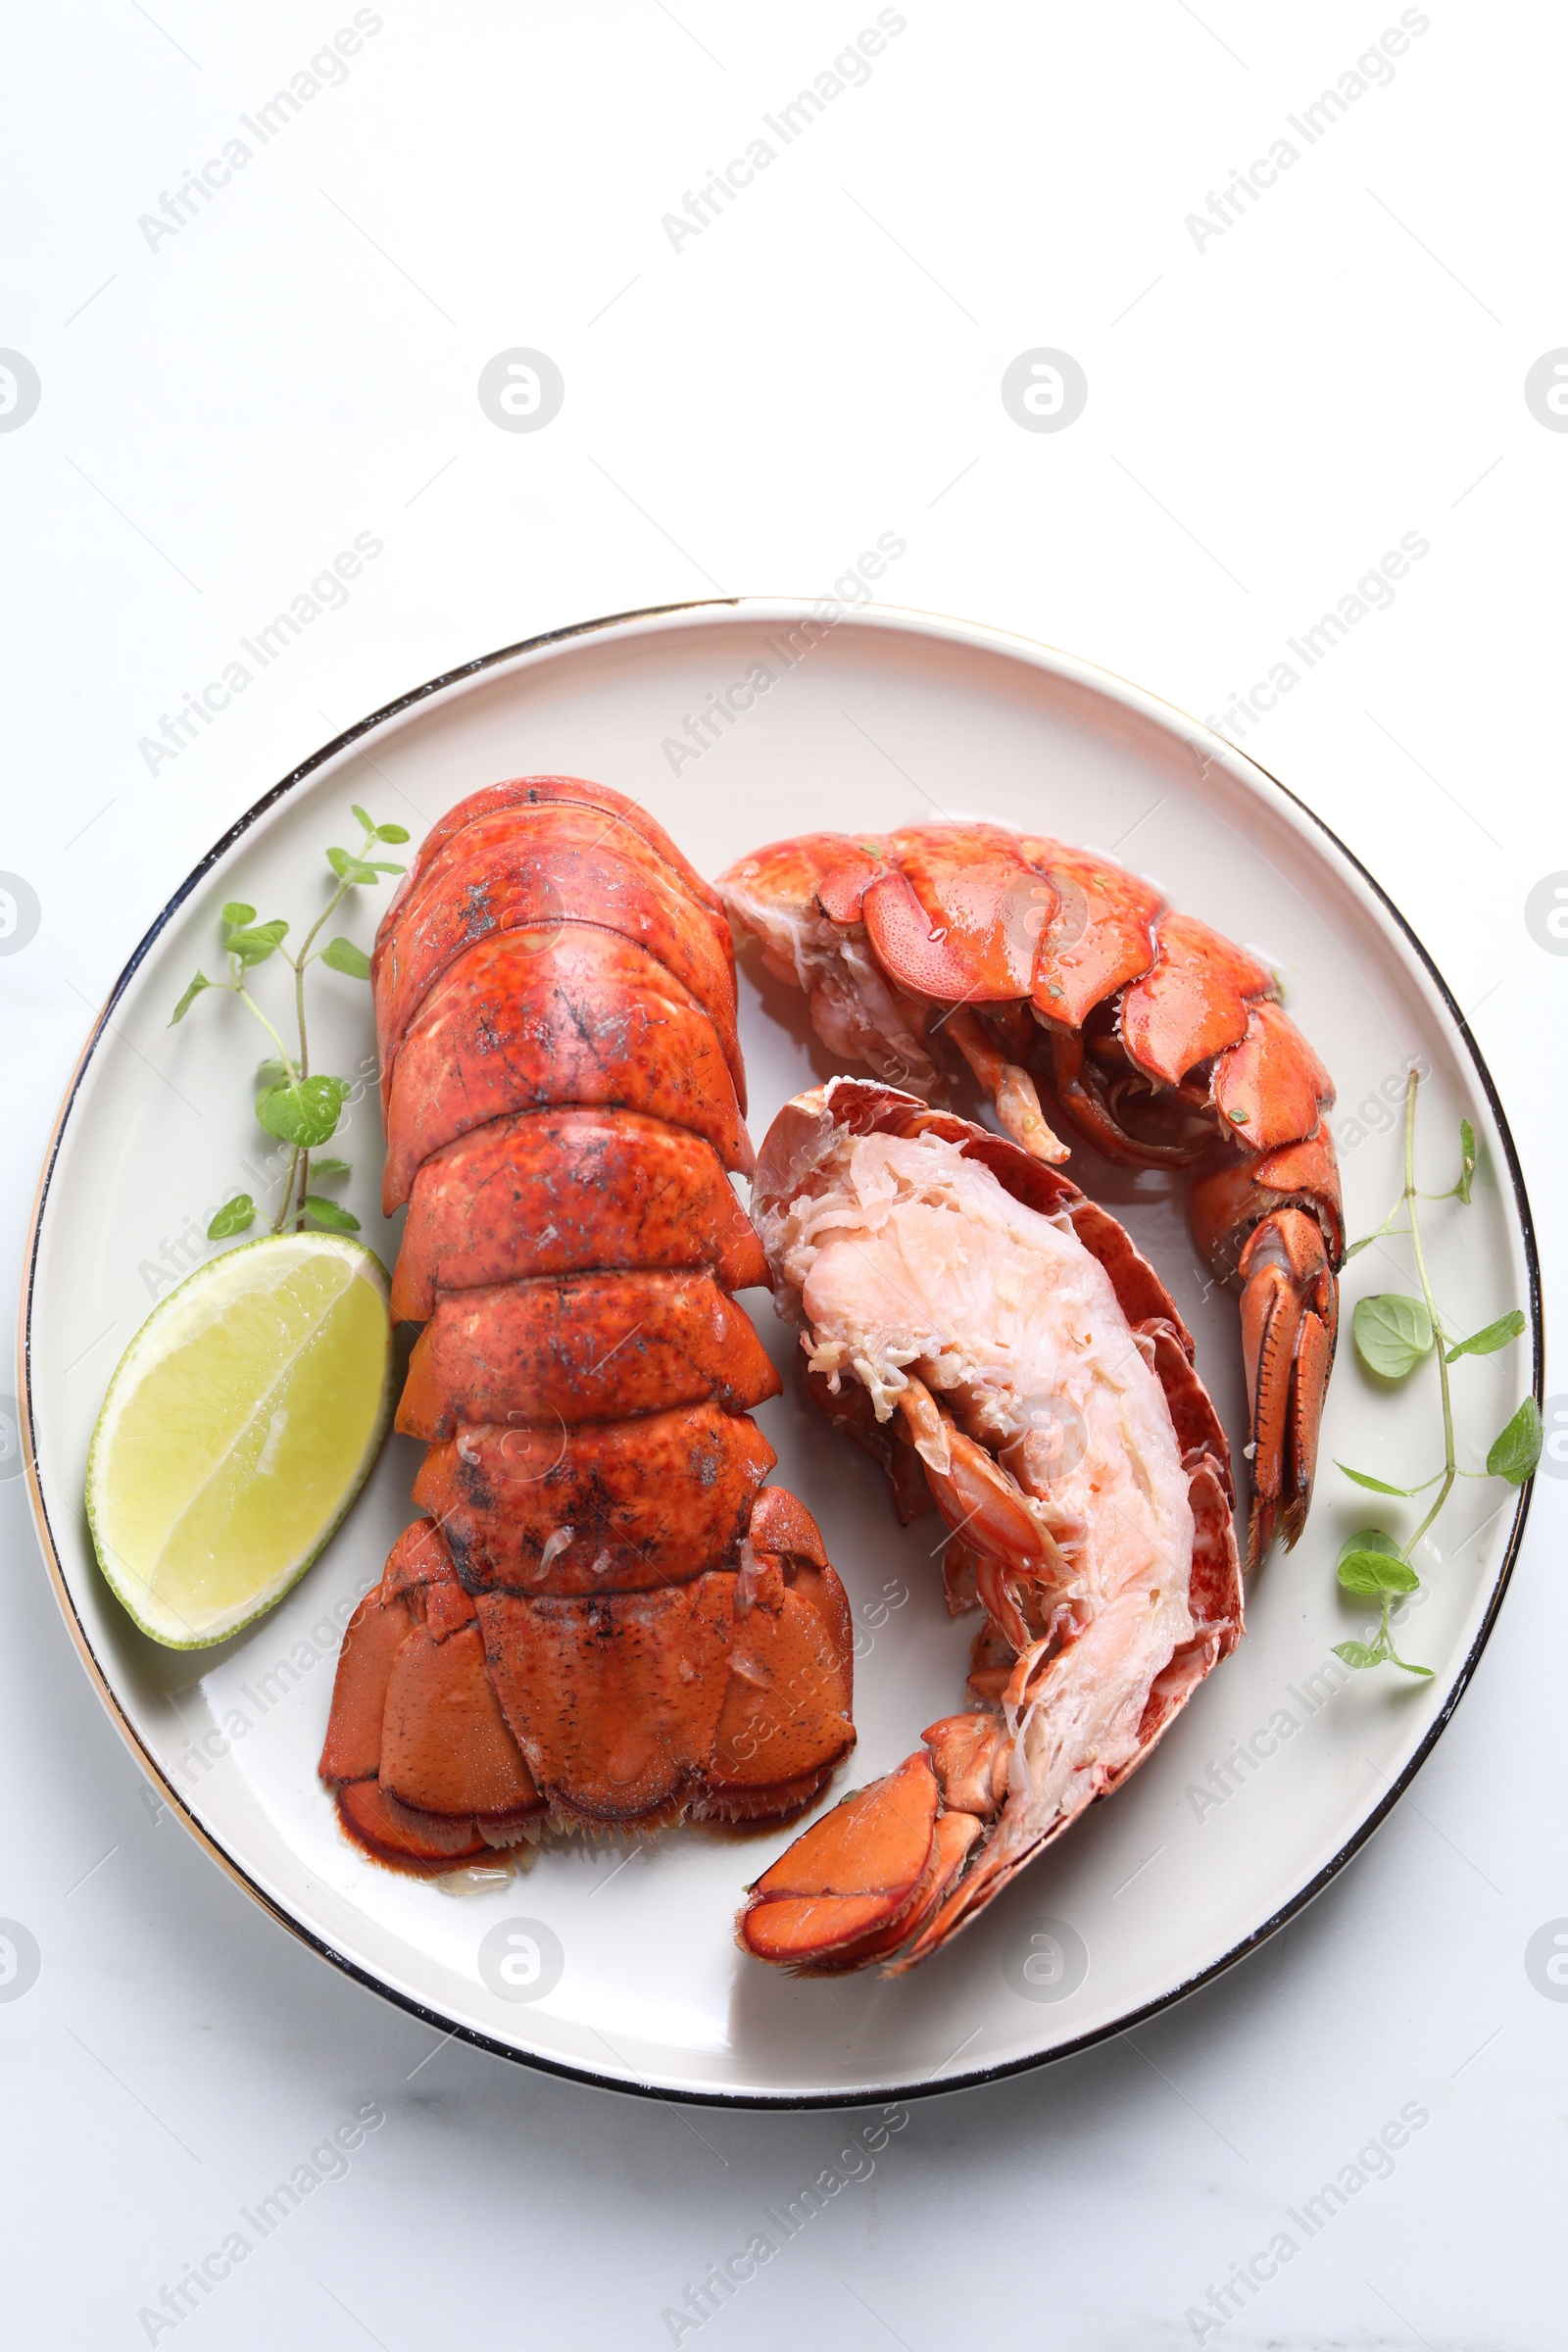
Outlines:
[[[336,875],[336,889],[317,920],[306,931],[299,955],[289,955],[284,938],[289,936],[289,924],[282,917],[268,922],[256,922],[256,908],[244,906],[242,898],[230,898],[223,908],[223,943],[221,953],[228,960],[228,978],[209,981],[205,971],[186,988],[183,997],[174,1007],[169,1028],[183,1021],[195,1000],[216,988],[223,995],[240,997],[247,1004],[261,1028],[268,1033],[277,1047],[275,1058],[263,1061],[256,1073],[256,1120],[277,1143],[289,1145],[289,1174],[284,1176],[282,1200],[277,1202],[277,1214],[273,1216],[273,1232],[294,1218],[294,1230],[303,1232],[306,1225],[322,1225],[327,1232],[357,1232],[360,1218],[343,1209],[341,1202],[329,1200],[324,1192],[310,1190],[310,1176],[315,1183],[329,1181],[334,1176],[348,1176],[348,1160],[317,1160],[310,1167],[310,1152],[322,1143],[329,1143],[336,1134],[339,1120],[343,1115],[343,1103],[350,1096],[350,1082],[346,1077],[324,1077],[310,1070],[310,1047],[306,1040],[306,967],[327,964],[329,971],[341,971],[350,981],[369,981],[369,955],[364,948],[355,948],[353,938],[329,938],[324,948],[317,948],[317,938],[343,906],[353,889],[378,887],[381,875],[400,875],[402,866],[390,866],[383,858],[371,858],[369,851],[376,842],[407,842],[404,826],[376,826],[355,807],[353,811],[360,821],[364,840],[357,849],[329,849],[327,863]],[[296,1051],[282,1042],[282,1035],[273,1021],[256,1004],[249,993],[249,974],[266,964],[273,955],[282,955],[284,964],[294,971],[294,1028],[299,1033]],[[247,1232],[256,1221],[256,1204],[249,1192],[235,1192],[233,1200],[223,1202],[219,1214],[207,1228],[209,1242],[226,1242],[235,1232]]]

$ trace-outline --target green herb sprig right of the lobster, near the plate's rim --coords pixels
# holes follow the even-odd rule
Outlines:
[[[1406,1298],[1399,1291],[1380,1291],[1375,1298],[1361,1298],[1356,1312],[1352,1315],[1352,1334],[1356,1341],[1356,1355],[1380,1381],[1403,1381],[1415,1367],[1436,1355],[1439,1395],[1443,1404],[1443,1468],[1434,1470],[1432,1477],[1422,1479],[1418,1486],[1392,1486],[1387,1479],[1371,1477],[1366,1470],[1352,1470],[1349,1463],[1338,1463],[1347,1479],[1356,1486],[1368,1486],[1373,1494],[1392,1494],[1401,1498],[1413,1498],[1436,1486],[1436,1501],[1429,1505],[1427,1517],[1420,1522],[1415,1534],[1406,1543],[1394,1543],[1389,1534],[1380,1526],[1361,1526],[1342,1545],[1338,1573],[1345,1592],[1359,1592],[1375,1599],[1382,1609],[1378,1635],[1373,1642],[1335,1642],[1335,1653],[1345,1658],[1347,1665],[1396,1665],[1406,1675],[1429,1677],[1429,1665],[1410,1665],[1394,1649],[1394,1635],[1389,1618],[1394,1604],[1408,1592],[1420,1588],[1420,1576],[1410,1566],[1410,1552],[1432,1529],[1436,1515],[1462,1477],[1505,1477],[1512,1486],[1523,1486],[1540,1461],[1542,1428],[1540,1406],[1535,1397],[1526,1397],[1512,1421],[1497,1432],[1493,1446],[1486,1456],[1486,1470],[1460,1470],[1453,1442],[1453,1390],[1448,1383],[1448,1367],[1462,1355],[1495,1355],[1497,1348],[1507,1348],[1512,1338],[1526,1329],[1526,1319],[1519,1308],[1509,1308],[1507,1315],[1497,1315],[1495,1322],[1483,1324],[1472,1331],[1469,1338],[1455,1338],[1443,1329],[1436,1310],[1436,1298],[1432,1296],[1432,1279],[1427,1275],[1427,1254],[1420,1232],[1420,1200],[1458,1200],[1469,1207],[1469,1195],[1476,1176],[1476,1131],[1469,1120],[1460,1120],[1460,1174],[1446,1192],[1418,1192],[1415,1188],[1415,1089],[1420,1084],[1420,1073],[1410,1070],[1410,1082],[1406,1087],[1406,1181],[1403,1192],[1378,1225],[1375,1232],[1363,1235],[1352,1242],[1345,1251],[1345,1261],[1356,1256],[1371,1242],[1382,1240],[1389,1232],[1410,1235],[1410,1254],[1415,1258],[1415,1277],[1420,1282],[1420,1298]],[[1394,1218],[1406,1216],[1403,1225]]]

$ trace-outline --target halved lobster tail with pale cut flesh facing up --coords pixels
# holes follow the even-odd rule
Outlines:
[[[1229,1449],[1192,1338],[1105,1209],[919,1096],[832,1080],[755,1216],[809,1395],[947,1524],[983,1609],[969,1710],[757,1879],[741,1947],[804,1973],[936,1952],[1143,1764],[1241,1635]]]

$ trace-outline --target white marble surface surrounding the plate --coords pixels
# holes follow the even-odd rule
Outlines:
[[[1474,1007],[1552,1298],[1568,967],[1526,896],[1568,866],[1568,437],[1523,379],[1568,341],[1561,16],[1434,5],[1392,82],[1307,146],[1286,115],[1396,7],[910,5],[872,78],[780,148],[762,115],[872,7],[378,14],[341,87],[266,148],[240,132],[252,162],[148,247],[139,216],[353,12],[7,12],[0,346],[42,381],[0,433],[0,868],[42,910],[0,957],[7,1287],[127,953],[237,811],[400,689],[592,614],[823,593],[896,532],[898,602],[1222,715],[1415,532],[1429,555],[1392,609],[1237,734]],[[675,249],[661,216],[759,132],[776,162]],[[1199,247],[1187,214],[1279,136],[1300,160]],[[475,395],[512,346],[567,381],[541,433]],[[999,397],[1037,346],[1088,376],[1065,433]],[[383,555],[348,604],[150,774],[141,739],[357,532]],[[1523,1950],[1568,1912],[1566,1501],[1540,1482],[1453,1729],[1312,1912],[1107,2049],[914,2105],[703,2340],[1559,2340],[1568,2006]],[[19,1477],[0,1536],[0,1915],[42,1950],[0,2004],[14,2338],[146,2343],[162,2286],[378,2100],[348,2178],[160,2343],[670,2343],[663,2310],[853,2119],[675,2110],[437,2046],[155,1818]],[[1406,2103],[1432,2122],[1394,2176],[1199,2326],[1208,2286]]]

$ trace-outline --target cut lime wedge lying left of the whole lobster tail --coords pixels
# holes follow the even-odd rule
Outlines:
[[[386,1268],[282,1232],[197,1268],[120,1357],[87,1456],[115,1599],[205,1649],[282,1599],[357,1496],[393,1409]]]

